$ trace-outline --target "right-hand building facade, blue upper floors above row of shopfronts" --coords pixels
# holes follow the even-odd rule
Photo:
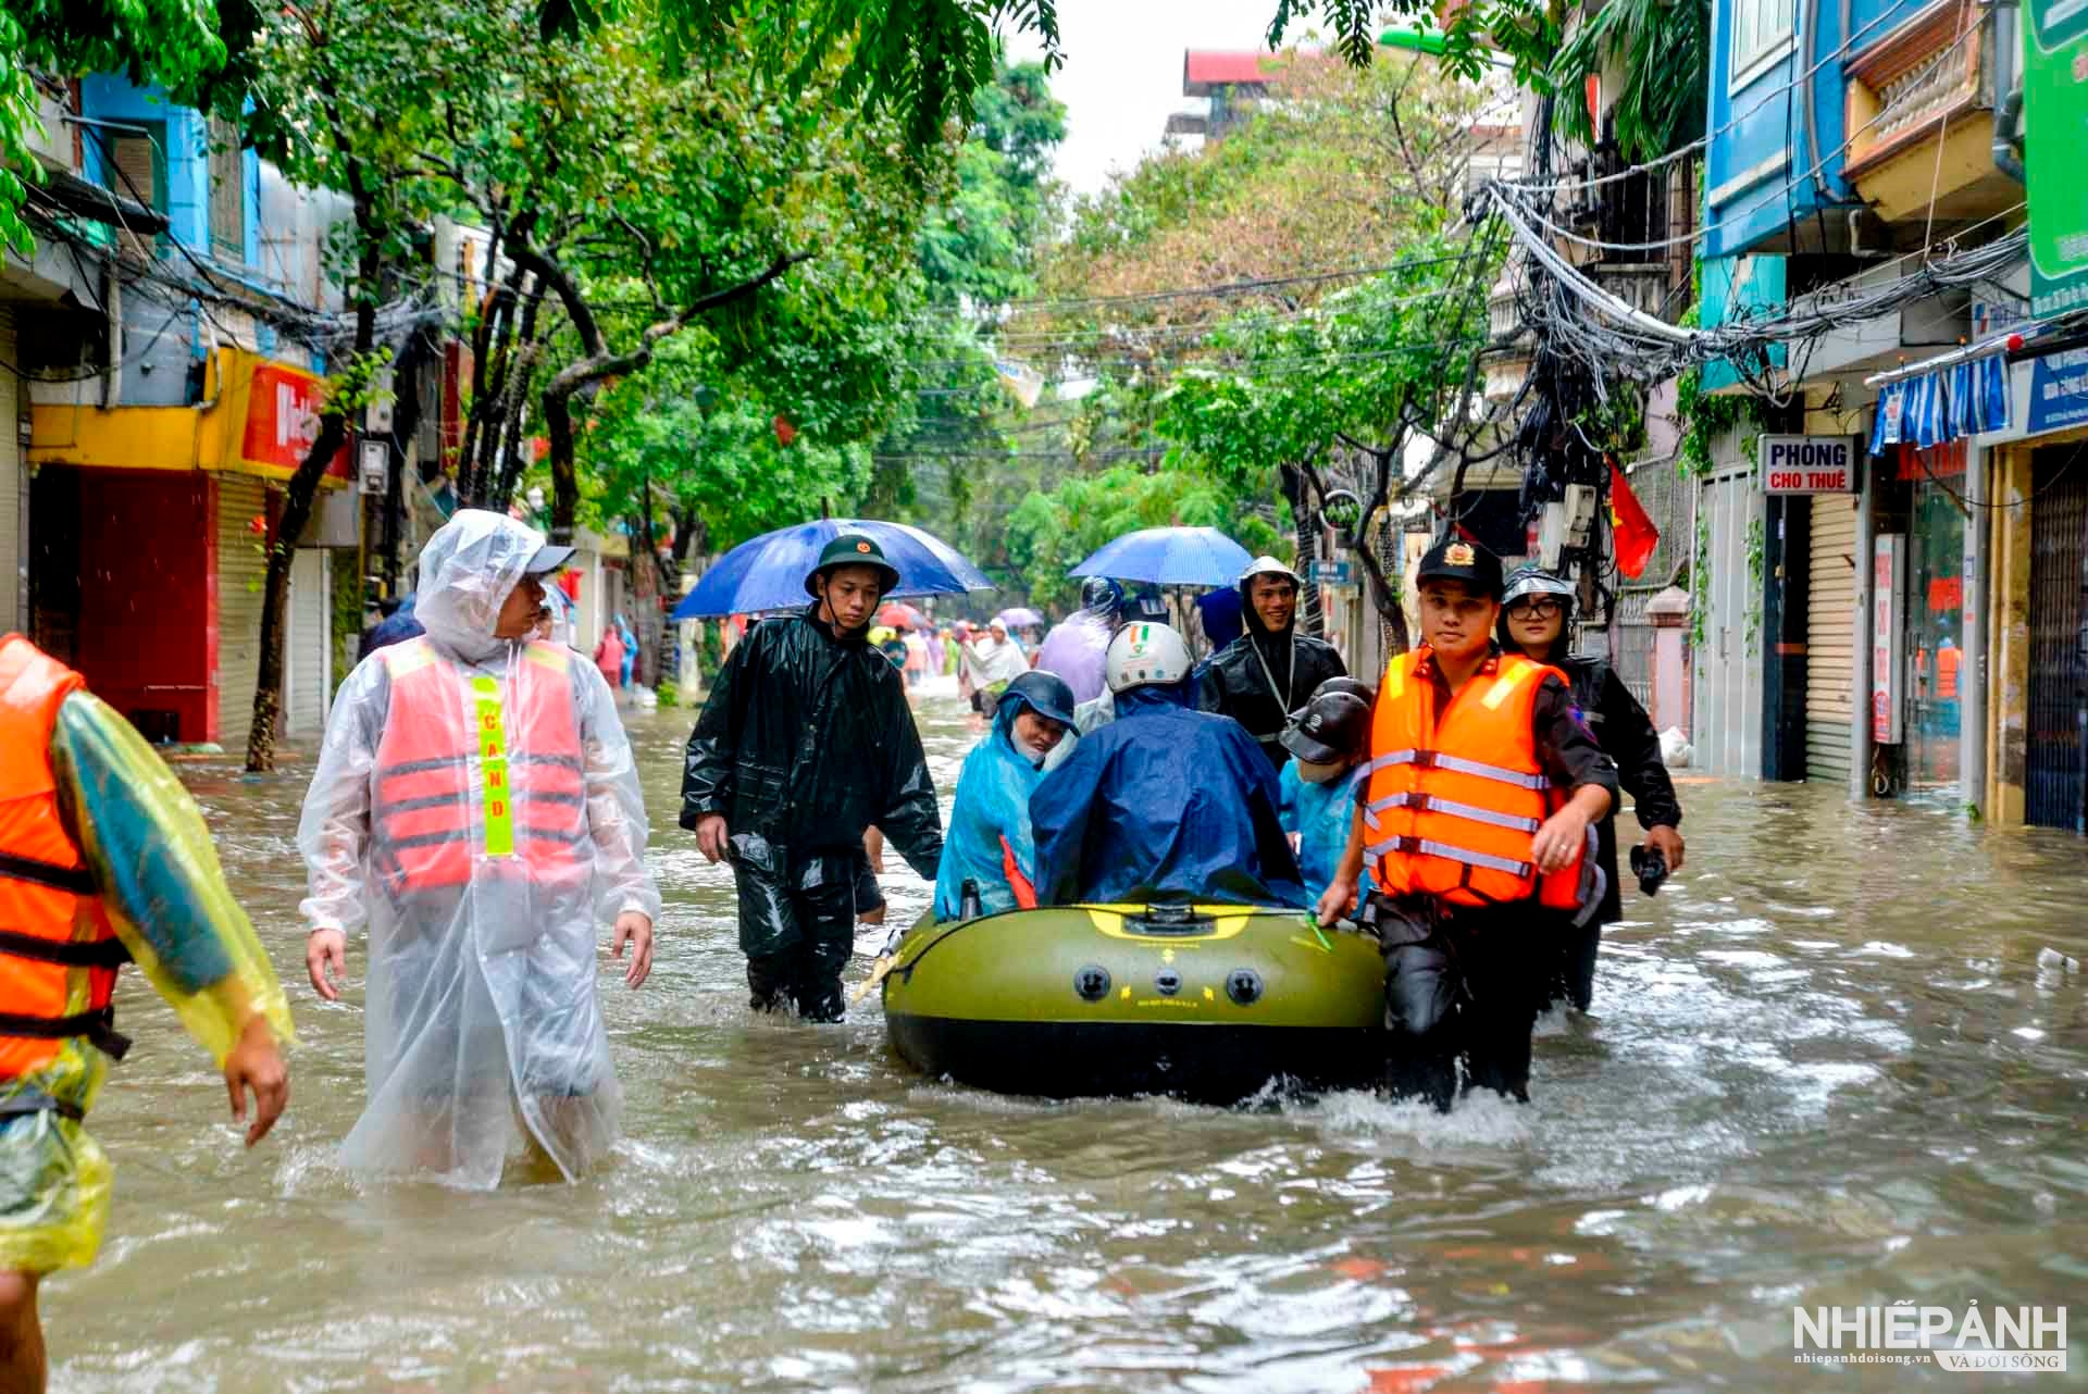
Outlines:
[[[1758,755],[1729,768],[2082,831],[2088,478],[2069,465],[2088,382],[2078,334],[2030,315],[2015,255],[2017,8],[1714,13],[1704,321],[1915,288],[1752,365],[1779,405],[1752,409],[1702,484],[1712,555],[1750,561],[1712,624],[1760,634],[1737,672],[1698,651],[1700,687],[1764,714]],[[1975,248],[1998,267],[1977,284],[1921,282]],[[1704,382],[1741,390],[1731,369]],[[1787,467],[1794,451],[1827,467]],[[1700,749],[1712,724],[1700,705]]]

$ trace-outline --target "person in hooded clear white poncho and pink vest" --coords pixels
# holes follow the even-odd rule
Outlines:
[[[370,935],[349,1167],[491,1187],[530,1141],[572,1179],[616,1139],[595,933],[614,920],[637,987],[660,891],[608,682],[530,641],[539,578],[570,553],[457,511],[420,557],[428,632],[372,653],[334,699],[296,841],[322,998],[347,935]]]

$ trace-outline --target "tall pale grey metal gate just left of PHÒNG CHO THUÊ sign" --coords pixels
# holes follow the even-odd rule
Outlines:
[[[1737,459],[1737,436],[1721,438]],[[1704,480],[1698,555],[1689,591],[1702,607],[1691,703],[1691,766],[1708,774],[1762,776],[1762,574],[1766,511],[1752,467]],[[1752,557],[1752,559],[1750,559]]]

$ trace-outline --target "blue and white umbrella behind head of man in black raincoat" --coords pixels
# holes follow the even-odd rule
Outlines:
[[[889,595],[963,595],[992,591],[986,572],[967,561],[954,547],[906,524],[867,518],[823,518],[764,532],[752,543],[731,549],[704,572],[689,595],[674,605],[677,620],[706,616],[745,616],[762,609],[798,609],[808,603],[804,578],[818,566],[818,553],[841,532],[862,532],[898,568],[900,584]]]

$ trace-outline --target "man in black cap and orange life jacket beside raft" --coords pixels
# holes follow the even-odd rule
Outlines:
[[[1384,943],[1386,1075],[1443,1112],[1457,1091],[1528,1100],[1531,1029],[1553,954],[1539,939],[1601,904],[1595,831],[1616,766],[1574,718],[1566,676],[1493,645],[1501,559],[1445,536],[1422,557],[1422,647],[1391,662],[1368,776],[1320,920],[1355,904]]]

